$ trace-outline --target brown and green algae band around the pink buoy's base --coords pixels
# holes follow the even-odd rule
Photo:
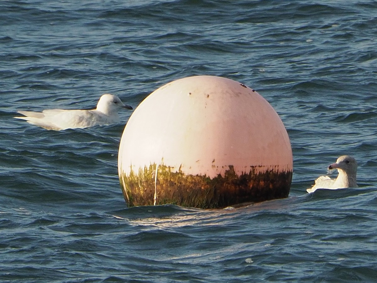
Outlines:
[[[156,164],[131,170],[129,176],[121,176],[124,199],[129,207],[153,205],[155,194]],[[261,202],[287,198],[292,172],[248,173],[237,175],[232,165],[224,176],[208,178],[201,175],[185,175],[180,169],[158,165],[156,205],[177,204],[203,209],[222,208],[240,203]]]

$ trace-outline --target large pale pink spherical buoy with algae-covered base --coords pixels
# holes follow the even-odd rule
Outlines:
[[[128,206],[221,208],[288,197],[292,150],[271,105],[215,76],[151,93],[124,128],[118,173]]]

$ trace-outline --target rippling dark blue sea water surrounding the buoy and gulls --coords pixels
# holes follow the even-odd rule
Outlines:
[[[0,281],[377,281],[376,15],[372,0],[0,1]],[[117,153],[132,111],[65,131],[13,119],[103,93],[135,108],[203,74],[279,113],[289,198],[127,208]],[[307,194],[343,154],[360,188]]]

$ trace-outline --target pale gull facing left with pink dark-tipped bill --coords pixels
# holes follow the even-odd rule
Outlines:
[[[308,193],[313,193],[317,189],[336,190],[358,187],[356,184],[357,162],[352,156],[340,156],[336,163],[329,165],[328,169],[338,169],[338,177],[336,179],[331,179],[329,176],[320,176],[316,179],[314,186],[307,189]]]

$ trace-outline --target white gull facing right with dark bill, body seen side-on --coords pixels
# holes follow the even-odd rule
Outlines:
[[[118,110],[132,109],[124,105],[119,97],[113,94],[103,94],[93,110],[62,110],[48,109],[42,112],[17,111],[26,117],[14,117],[28,121],[47,130],[65,130],[69,128],[87,128],[97,125],[119,123]]]

